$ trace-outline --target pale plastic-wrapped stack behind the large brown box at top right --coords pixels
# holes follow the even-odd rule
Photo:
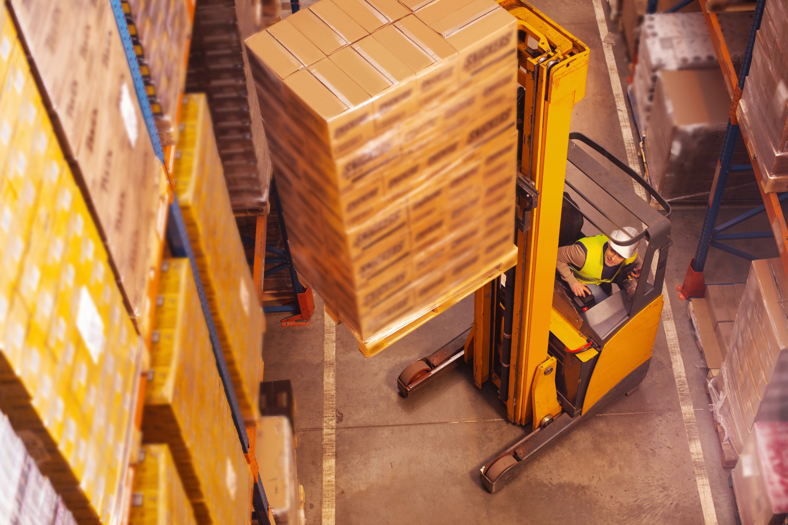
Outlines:
[[[736,71],[742,63],[752,17],[752,13],[726,13],[719,17]],[[648,129],[657,72],[681,69],[719,69],[703,13],[646,15],[632,80],[633,111],[641,133]]]

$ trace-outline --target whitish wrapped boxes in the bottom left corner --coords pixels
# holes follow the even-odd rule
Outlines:
[[[0,519],[26,525],[76,525],[74,516],[35,465],[0,412]]]

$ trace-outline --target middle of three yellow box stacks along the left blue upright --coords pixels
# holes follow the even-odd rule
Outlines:
[[[166,443],[197,523],[241,525],[251,479],[188,259],[162,263],[143,442]]]

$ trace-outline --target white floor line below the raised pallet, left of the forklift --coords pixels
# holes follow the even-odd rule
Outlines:
[[[323,307],[323,519],[336,520],[336,325]]]

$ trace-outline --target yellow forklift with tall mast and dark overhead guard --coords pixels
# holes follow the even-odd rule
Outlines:
[[[667,201],[602,146],[570,133],[572,108],[585,94],[588,47],[528,2],[498,3],[519,26],[516,263],[474,292],[474,321],[463,334],[397,379],[400,394],[410,397],[464,360],[473,365],[476,386],[491,381],[498,388],[508,419],[530,426],[481,467],[490,492],[645,378],[671,244]],[[629,240],[616,241],[645,245],[643,269],[629,293],[615,290],[593,304],[575,297],[556,275],[563,206],[598,233],[635,227]]]

